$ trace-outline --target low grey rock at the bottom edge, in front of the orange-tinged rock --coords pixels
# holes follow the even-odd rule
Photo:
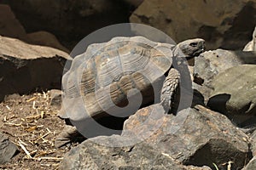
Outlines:
[[[86,140],[70,150],[61,162],[60,169],[210,169],[209,167],[184,167],[173,161],[171,156],[145,143],[126,147],[108,147],[96,144],[95,140],[105,140],[114,144],[125,139],[113,135]]]

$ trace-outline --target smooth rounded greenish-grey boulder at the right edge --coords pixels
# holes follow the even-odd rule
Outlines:
[[[213,91],[207,105],[229,116],[243,127],[255,122],[256,65],[238,65],[212,80]]]

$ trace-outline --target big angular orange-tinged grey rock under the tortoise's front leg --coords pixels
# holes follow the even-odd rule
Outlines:
[[[236,160],[232,168],[243,167],[244,161],[250,159],[247,135],[237,129],[226,116],[201,105],[195,107],[180,111],[177,116],[164,116],[162,121],[151,122],[148,116],[156,113],[151,112],[153,105],[148,106],[129,117],[122,135],[132,138],[139,135],[137,138],[145,139],[147,144],[157,147],[184,165],[207,165],[214,169],[214,162],[218,168],[227,169],[224,162]],[[162,126],[150,138],[144,138],[160,122]]]

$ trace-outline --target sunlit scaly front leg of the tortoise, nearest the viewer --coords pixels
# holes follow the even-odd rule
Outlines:
[[[179,80],[179,72],[176,69],[172,68],[168,72],[168,76],[166,77],[160,94],[160,103],[161,105],[163,105],[166,113],[168,113],[172,109],[172,99],[174,99],[174,95],[177,92]]]

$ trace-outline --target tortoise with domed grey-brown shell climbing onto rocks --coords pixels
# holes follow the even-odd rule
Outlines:
[[[176,46],[138,36],[113,37],[109,42],[90,44],[84,54],[73,59],[70,70],[62,77],[59,116],[72,121],[108,116],[109,112],[119,116],[122,112],[118,108],[132,101],[139,103],[137,97],[132,98],[137,92],[142,95],[140,106],[160,101],[168,112],[180,79],[180,71],[172,64],[178,59],[195,57],[204,48],[201,38]],[[132,91],[134,88],[137,90]],[[137,105],[134,107],[138,109]],[[130,114],[135,112],[132,109],[131,104]],[[67,133],[62,136],[67,139]]]

